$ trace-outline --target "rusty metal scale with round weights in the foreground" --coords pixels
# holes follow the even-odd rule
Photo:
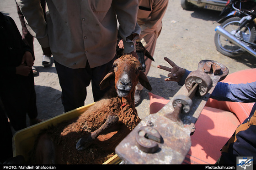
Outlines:
[[[145,117],[117,145],[126,164],[181,164],[191,147],[190,135],[215,86],[229,73],[213,60],[202,60],[168,104]]]

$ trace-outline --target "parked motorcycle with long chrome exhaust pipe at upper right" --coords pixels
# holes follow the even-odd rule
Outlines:
[[[245,51],[256,56],[256,2],[231,0],[221,15],[225,16],[215,29],[216,49],[229,57],[242,55]]]

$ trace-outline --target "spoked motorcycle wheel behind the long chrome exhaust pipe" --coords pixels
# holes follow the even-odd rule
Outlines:
[[[227,30],[229,33],[234,35],[235,30],[237,30],[240,26],[239,21],[240,17],[232,17],[228,20],[225,20],[220,26],[222,26],[225,30]],[[240,32],[242,32],[243,38],[245,41],[248,42],[254,42],[255,36],[256,36],[256,30],[255,26],[252,23],[248,23],[245,25]],[[240,32],[236,33],[235,36],[240,38]],[[241,49],[239,46],[234,45],[232,42],[230,42],[228,39],[226,39],[224,36],[219,35],[217,32],[214,36],[214,43],[217,48],[217,50],[228,57],[235,57],[238,55],[242,55],[245,50]]]

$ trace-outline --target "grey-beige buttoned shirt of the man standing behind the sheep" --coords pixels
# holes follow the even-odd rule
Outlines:
[[[42,47],[50,47],[54,60],[69,68],[91,68],[113,59],[117,43],[117,19],[125,52],[132,52],[140,34],[136,23],[137,0],[46,0],[43,18],[40,0],[16,0],[28,30]],[[137,35],[129,40],[129,35]]]

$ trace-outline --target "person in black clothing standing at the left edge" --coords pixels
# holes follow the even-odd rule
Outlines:
[[[14,20],[1,12],[0,51],[0,146],[12,154],[10,147],[7,147],[12,136],[7,118],[14,130],[27,127],[27,114],[30,125],[40,120],[37,119],[32,50],[22,40]],[[6,152],[1,151],[0,159],[10,156]]]

